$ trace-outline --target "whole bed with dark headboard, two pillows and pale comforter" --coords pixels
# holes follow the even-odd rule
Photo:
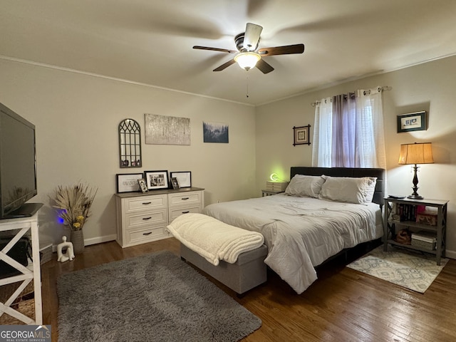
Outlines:
[[[291,167],[290,180],[282,194],[209,204],[202,213],[263,234],[265,264],[301,294],[316,266],[383,236],[385,170]]]

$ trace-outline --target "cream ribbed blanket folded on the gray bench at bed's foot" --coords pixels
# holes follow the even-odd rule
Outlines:
[[[258,232],[234,227],[204,214],[180,215],[167,230],[215,266],[220,260],[234,264],[239,254],[264,243],[263,235]]]

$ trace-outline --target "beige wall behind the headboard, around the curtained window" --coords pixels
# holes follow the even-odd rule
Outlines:
[[[306,93],[257,108],[257,189],[271,172],[289,180],[289,167],[311,166],[312,145],[293,144],[293,126],[314,126],[315,100],[358,88],[392,86],[383,97],[388,193],[410,195],[410,166],[398,165],[400,144],[432,142],[435,164],[421,165],[418,193],[428,199],[448,199],[447,255],[456,258],[456,57],[421,64],[331,88]],[[303,75],[305,77],[305,75]],[[426,110],[429,128],[397,133],[399,114]],[[311,139],[313,134],[311,133]]]

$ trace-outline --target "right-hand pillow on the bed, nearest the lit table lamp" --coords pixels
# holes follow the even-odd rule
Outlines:
[[[337,202],[364,204],[372,202],[376,177],[330,177],[325,178],[318,198]]]

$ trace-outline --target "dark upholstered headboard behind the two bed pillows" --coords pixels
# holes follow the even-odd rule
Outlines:
[[[383,205],[385,197],[385,169],[359,167],[306,167],[292,166],[290,180],[294,175],[333,176],[333,177],[377,177],[372,202]]]

